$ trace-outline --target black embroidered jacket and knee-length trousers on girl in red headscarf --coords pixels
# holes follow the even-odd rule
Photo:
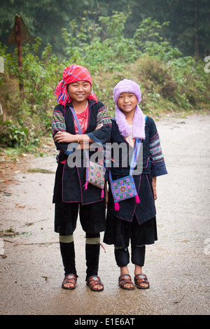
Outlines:
[[[101,123],[103,127],[95,130],[97,125]],[[54,137],[58,131],[76,134],[73,115],[68,104],[65,107],[57,105],[53,111],[52,136]],[[92,141],[101,145],[110,139],[111,119],[101,102],[89,102],[89,116],[85,134]],[[75,166],[69,167],[69,156],[76,155],[73,146],[68,143],[55,143],[55,145],[59,151],[52,199],[52,202],[55,203],[55,232],[59,232],[60,235],[73,234],[78,211],[85,232],[104,231],[106,221],[105,198],[102,197],[102,190],[92,186],[92,184],[88,184],[87,190],[84,188],[86,158],[83,151],[80,151],[81,165],[75,162]],[[70,149],[71,151],[69,151]],[[91,155],[92,152],[90,152],[90,157]]]

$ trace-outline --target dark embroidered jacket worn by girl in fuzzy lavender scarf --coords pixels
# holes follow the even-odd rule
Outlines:
[[[126,144],[127,146],[127,156],[120,156],[118,160],[118,166],[114,165],[114,158],[111,161],[111,175],[112,179],[119,179],[123,176],[130,174],[130,165],[128,158],[131,159],[132,152],[134,148],[127,143],[126,139],[120,134],[118,130],[118,125],[116,119],[112,120],[112,130],[111,130],[111,144]],[[148,221],[149,219],[155,217],[155,201],[153,196],[152,187],[152,177],[161,176],[167,174],[167,169],[165,166],[164,156],[162,154],[162,149],[160,146],[160,137],[152,118],[147,117],[145,125],[146,138],[141,142],[141,148],[143,153],[139,153],[142,162],[142,172],[140,174],[134,170],[134,182],[139,195],[140,203],[137,204],[134,197],[123,200],[119,202],[120,210],[115,211],[113,206],[113,196],[111,194],[111,188],[109,186],[109,202],[111,202],[109,209],[113,211],[113,215],[122,218],[126,221],[132,221],[134,214],[137,216],[139,224]],[[140,160],[140,159],[139,159]],[[107,176],[106,176],[107,177]]]

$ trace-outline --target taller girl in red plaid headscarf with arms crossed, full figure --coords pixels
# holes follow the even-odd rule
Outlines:
[[[102,190],[91,184],[85,186],[85,165],[69,167],[68,157],[76,143],[82,149],[91,143],[105,144],[111,135],[111,119],[102,102],[92,92],[92,78],[87,69],[71,65],[64,69],[63,80],[55,90],[57,102],[52,116],[52,137],[59,151],[53,203],[55,203],[55,232],[59,233],[59,245],[64,265],[62,288],[76,287],[77,272],[73,232],[76,229],[78,212],[86,234],[85,258],[86,281],[91,290],[101,291],[104,285],[98,276],[100,232],[105,230],[106,202]],[[82,130],[71,111],[73,107]],[[87,141],[85,146],[83,141]],[[72,146],[72,147],[71,147]],[[83,163],[83,162],[81,162]],[[85,163],[85,162],[84,162]]]

